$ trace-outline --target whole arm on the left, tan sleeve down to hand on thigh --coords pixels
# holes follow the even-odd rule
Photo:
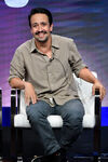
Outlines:
[[[23,80],[25,79],[25,60],[23,50],[24,49],[18,48],[15,51],[11,62],[9,83],[13,89],[25,90],[25,102],[29,105],[29,103],[37,103],[37,94],[33,85],[30,82]]]

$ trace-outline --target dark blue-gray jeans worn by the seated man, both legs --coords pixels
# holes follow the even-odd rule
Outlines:
[[[43,145],[44,156],[54,153],[60,148],[68,149],[82,132],[84,108],[80,99],[71,99],[66,104],[51,107],[48,103],[39,100],[27,107],[27,116],[32,130],[39,134]],[[64,121],[60,130],[60,140],[57,141],[46,117],[60,114]]]

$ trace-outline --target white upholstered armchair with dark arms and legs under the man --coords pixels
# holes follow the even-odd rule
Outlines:
[[[96,72],[93,75],[97,78]],[[100,100],[99,93],[96,91],[95,96],[92,95],[92,83],[85,82],[82,79],[77,78],[76,80],[78,93],[80,99],[83,103],[85,114],[83,117],[83,127],[94,129],[94,161],[98,161],[99,149],[100,149]],[[26,105],[24,100],[24,91],[17,91],[16,100],[16,90],[11,91],[11,110],[12,110],[12,151],[15,152],[14,136],[15,129],[22,130],[30,127],[30,123],[26,116]],[[17,103],[17,113],[16,113],[16,103]],[[62,127],[63,119],[60,116],[49,116],[48,120],[52,127]],[[18,132],[17,132],[18,133]],[[22,144],[22,132],[19,132],[19,138]]]

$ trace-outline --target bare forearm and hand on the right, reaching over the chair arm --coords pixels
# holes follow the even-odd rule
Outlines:
[[[87,69],[87,68],[82,68],[79,72],[79,78],[93,83],[93,87],[92,87],[92,93],[93,95],[95,94],[95,90],[98,89],[99,90],[99,94],[100,94],[100,99],[104,99],[104,96],[106,94],[106,90],[104,87],[104,85],[100,83],[100,81],[94,77],[94,75]]]

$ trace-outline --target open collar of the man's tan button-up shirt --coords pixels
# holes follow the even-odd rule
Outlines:
[[[59,49],[58,40],[55,39],[54,35],[52,35],[52,48]],[[35,44],[35,38],[31,39],[31,49],[30,49],[30,52],[32,53],[33,51],[38,51],[38,49],[37,49],[37,46]]]

